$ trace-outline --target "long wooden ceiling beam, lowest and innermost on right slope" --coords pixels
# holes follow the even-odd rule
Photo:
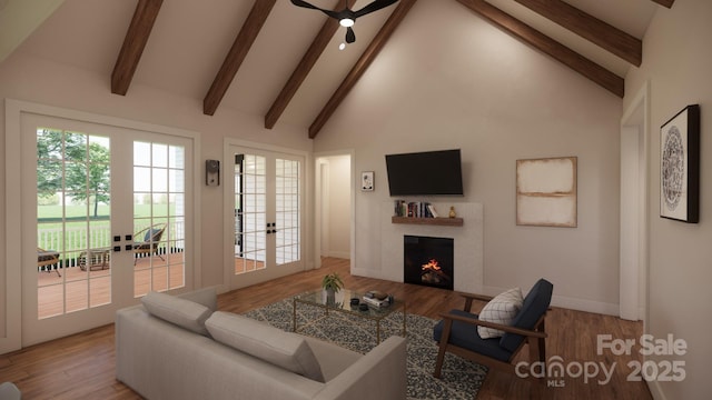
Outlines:
[[[554,39],[535,30],[526,23],[515,19],[498,8],[491,6],[484,0],[457,0],[472,11],[490,20],[517,39],[534,47],[535,49],[551,56],[574,71],[591,79],[595,83],[611,91],[617,97],[623,97],[625,82],[623,78],[606,70],[597,63],[586,59],[570,48],[561,44]]]

